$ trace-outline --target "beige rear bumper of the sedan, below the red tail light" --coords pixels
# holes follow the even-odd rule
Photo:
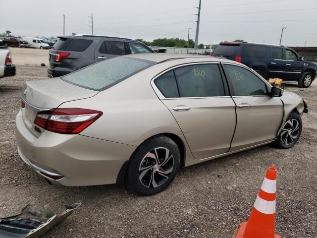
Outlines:
[[[83,135],[44,131],[33,135],[24,125],[21,110],[16,116],[16,141],[21,159],[52,183],[86,186],[115,183],[135,146]],[[52,179],[50,175],[62,176]]]

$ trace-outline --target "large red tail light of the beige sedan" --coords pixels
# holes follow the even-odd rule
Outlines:
[[[61,134],[78,134],[103,115],[100,111],[81,108],[57,108],[39,112],[34,123]]]

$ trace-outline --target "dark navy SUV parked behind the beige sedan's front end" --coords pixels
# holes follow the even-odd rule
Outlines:
[[[241,62],[265,79],[281,78],[308,88],[317,76],[317,64],[305,61],[293,49],[248,42],[221,42],[212,56]]]

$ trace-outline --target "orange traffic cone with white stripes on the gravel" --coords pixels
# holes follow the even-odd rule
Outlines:
[[[275,165],[268,168],[249,221],[241,223],[236,238],[281,238],[275,234]]]

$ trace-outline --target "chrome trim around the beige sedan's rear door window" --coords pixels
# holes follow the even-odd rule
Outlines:
[[[175,66],[172,66],[168,69],[165,69],[164,71],[160,72],[158,75],[156,75],[155,77],[153,77],[151,79],[151,86],[154,89],[155,93],[158,95],[160,100],[175,100],[175,99],[200,99],[200,98],[230,98],[230,96],[213,96],[213,97],[177,97],[177,98],[166,98],[164,97],[164,95],[159,91],[159,88],[157,87],[157,85],[155,85],[154,81],[161,75],[163,75],[164,73],[173,70],[175,68],[179,68],[179,67],[183,67],[183,66],[188,66],[188,65],[197,65],[197,64],[219,64],[220,62],[193,62],[193,63],[183,63],[183,64],[178,64]],[[220,70],[219,70],[220,72]]]

